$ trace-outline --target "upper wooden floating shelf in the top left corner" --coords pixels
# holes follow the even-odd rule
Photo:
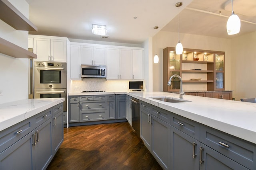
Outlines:
[[[0,19],[16,30],[37,31],[37,27],[8,0],[0,0]]]

